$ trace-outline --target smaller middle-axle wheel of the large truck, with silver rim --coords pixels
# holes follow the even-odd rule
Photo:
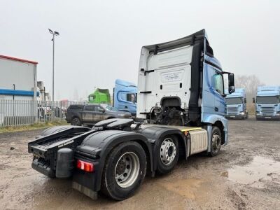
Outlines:
[[[176,136],[167,136],[158,144],[158,167],[159,174],[167,174],[174,169],[179,159],[179,143]]]

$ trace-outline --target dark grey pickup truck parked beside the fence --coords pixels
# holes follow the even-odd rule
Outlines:
[[[71,125],[94,125],[112,118],[132,118],[132,115],[107,104],[70,105],[66,111],[66,122]]]

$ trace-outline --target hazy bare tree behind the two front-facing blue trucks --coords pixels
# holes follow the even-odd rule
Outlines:
[[[258,86],[263,86],[260,79],[255,75],[237,75],[235,76],[235,87],[244,88],[246,91],[247,98],[252,98],[257,92]]]

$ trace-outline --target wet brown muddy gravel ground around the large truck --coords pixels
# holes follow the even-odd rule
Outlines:
[[[218,156],[179,160],[122,202],[90,200],[31,169],[27,142],[41,130],[0,134],[0,209],[279,209],[280,122],[230,120],[229,130]]]

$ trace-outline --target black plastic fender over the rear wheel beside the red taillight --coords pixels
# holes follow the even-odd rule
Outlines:
[[[110,151],[116,145],[126,141],[137,141],[141,144],[146,152],[147,158],[150,159],[151,169],[153,169],[152,146],[144,135],[137,132],[125,132],[121,130],[105,130],[90,134],[83,140],[82,144],[77,146],[76,153],[93,162],[98,161],[98,164],[94,165],[94,189],[92,190],[100,190],[103,168]]]

